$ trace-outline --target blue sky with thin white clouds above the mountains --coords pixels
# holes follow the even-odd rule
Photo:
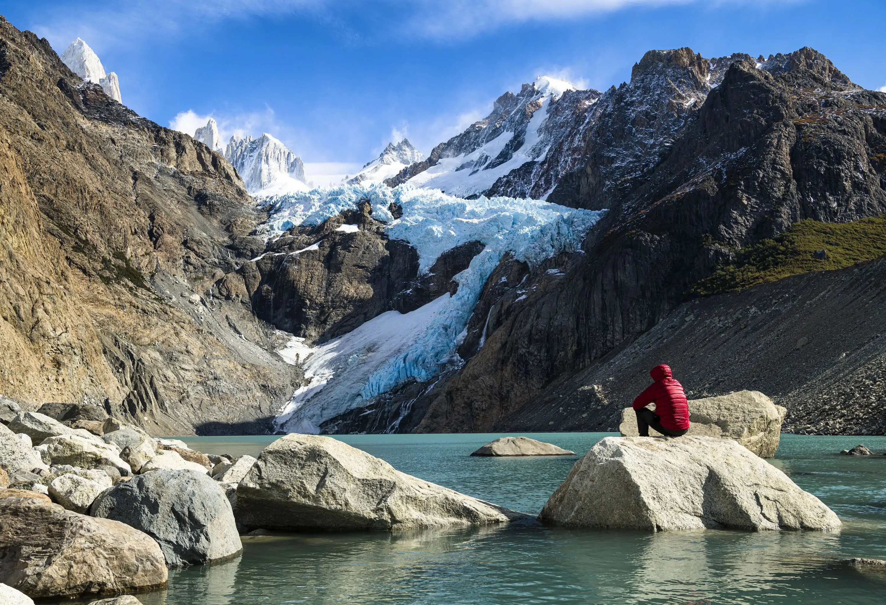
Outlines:
[[[59,53],[82,37],[136,112],[270,132],[317,173],[348,171],[392,136],[426,153],[539,74],[618,85],[649,49],[812,46],[886,86],[884,0],[6,0],[0,12]]]

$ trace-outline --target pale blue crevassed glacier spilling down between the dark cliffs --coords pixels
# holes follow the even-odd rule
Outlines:
[[[388,224],[388,237],[416,248],[422,273],[457,245],[478,240],[486,248],[455,275],[459,288],[454,296],[440,297],[410,314],[389,311],[312,349],[305,368],[306,376],[315,379],[278,416],[282,430],[316,432],[326,420],[367,405],[409,378],[429,380],[460,364],[455,352],[460,335],[501,257],[511,252],[532,267],[559,252],[579,250],[587,231],[606,212],[532,199],[462,199],[408,184],[395,189],[346,185],[264,199],[274,210],[261,229],[268,238],[276,237],[294,225],[320,224],[353,210],[362,200],[369,201],[373,217]],[[402,208],[399,219],[393,219],[392,204]],[[304,346],[300,341],[295,345]]]

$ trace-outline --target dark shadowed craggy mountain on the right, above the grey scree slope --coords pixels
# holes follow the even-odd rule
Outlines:
[[[631,84],[598,102],[587,166],[562,183],[557,201],[610,213],[584,254],[557,261],[562,277],[545,264],[527,278],[525,298],[500,300],[504,321],[486,330],[485,345],[437,394],[418,430],[508,426],[557,376],[655,326],[730,249],[805,218],[853,221],[886,210],[876,160],[886,144],[886,95],[859,89],[811,49],[760,68],[734,61],[707,93],[701,80],[711,70],[688,50],[648,53]],[[665,75],[687,88],[643,92],[649,78]],[[687,91],[697,95],[696,112],[681,109]],[[667,104],[653,101],[669,94],[673,115],[665,116]],[[647,111],[661,121],[639,128]],[[614,138],[597,140],[604,135]],[[616,159],[638,175],[622,180]]]

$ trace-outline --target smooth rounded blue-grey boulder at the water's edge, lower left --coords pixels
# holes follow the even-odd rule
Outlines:
[[[149,534],[168,565],[216,561],[243,549],[228,498],[206,472],[138,475],[99,496],[91,514]]]

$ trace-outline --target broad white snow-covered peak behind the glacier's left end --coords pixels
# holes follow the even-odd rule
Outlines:
[[[203,129],[211,129],[211,126],[207,123]],[[279,195],[309,189],[304,162],[267,132],[257,139],[231,136],[224,156],[237,168],[246,190],[253,195]]]

